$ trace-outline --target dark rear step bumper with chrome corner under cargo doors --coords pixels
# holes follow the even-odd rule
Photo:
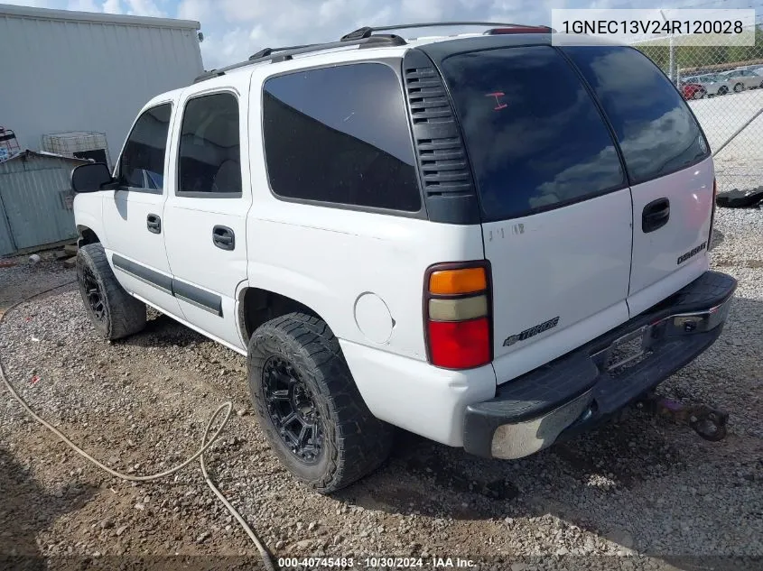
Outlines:
[[[705,272],[669,299],[467,407],[463,447],[520,458],[572,437],[654,388],[721,335],[737,282]]]

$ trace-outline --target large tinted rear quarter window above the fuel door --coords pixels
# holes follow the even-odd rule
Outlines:
[[[263,109],[267,174],[276,195],[421,209],[402,87],[386,65],[268,79]]]

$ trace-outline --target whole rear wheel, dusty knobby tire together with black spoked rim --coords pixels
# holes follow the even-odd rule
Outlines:
[[[393,428],[368,410],[320,318],[290,313],[258,327],[247,370],[257,421],[298,480],[332,493],[386,460]]]

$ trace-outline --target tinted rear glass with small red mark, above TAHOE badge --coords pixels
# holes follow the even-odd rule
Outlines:
[[[484,220],[561,207],[625,186],[591,95],[550,46],[476,51],[442,61]]]

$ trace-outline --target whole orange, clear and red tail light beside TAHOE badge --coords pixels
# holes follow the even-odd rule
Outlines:
[[[429,362],[471,369],[493,360],[489,262],[440,263],[424,275]]]

